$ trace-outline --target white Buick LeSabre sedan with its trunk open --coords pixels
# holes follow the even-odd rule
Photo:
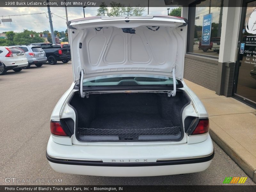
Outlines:
[[[157,176],[209,167],[208,114],[183,81],[186,25],[159,15],[68,22],[74,82],[51,115],[46,157],[55,171]]]

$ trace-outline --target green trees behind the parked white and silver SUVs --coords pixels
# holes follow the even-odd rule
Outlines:
[[[37,33],[36,31],[29,31],[28,29],[23,30],[23,32],[15,33],[13,37],[13,44],[30,44],[44,42],[44,39],[39,37],[39,33]],[[33,38],[30,37],[31,34],[34,35]]]

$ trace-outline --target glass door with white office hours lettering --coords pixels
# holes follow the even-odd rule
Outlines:
[[[233,96],[256,108],[256,1],[243,2]]]

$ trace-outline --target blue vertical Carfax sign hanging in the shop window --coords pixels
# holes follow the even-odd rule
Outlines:
[[[204,15],[202,29],[202,45],[210,45],[212,13]]]

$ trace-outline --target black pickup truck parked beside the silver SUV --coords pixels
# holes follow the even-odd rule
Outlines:
[[[33,43],[32,45],[39,45],[46,53],[49,64],[55,65],[57,61],[67,63],[71,60],[70,48],[54,48],[51,43]]]

